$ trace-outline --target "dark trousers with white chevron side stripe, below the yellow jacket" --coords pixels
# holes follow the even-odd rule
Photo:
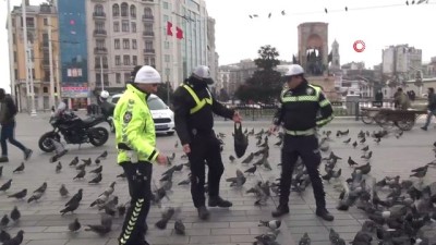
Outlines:
[[[126,212],[120,245],[144,245],[145,221],[150,208],[153,166],[146,161],[123,162],[131,205]]]

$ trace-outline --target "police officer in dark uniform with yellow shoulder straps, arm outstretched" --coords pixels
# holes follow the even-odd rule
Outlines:
[[[191,194],[202,220],[209,218],[205,205],[205,161],[209,169],[208,206],[232,206],[219,196],[219,182],[225,168],[220,143],[213,130],[213,113],[241,122],[238,112],[227,109],[211,96],[207,85],[213,83],[209,68],[199,65],[173,95],[175,131],[191,162]]]

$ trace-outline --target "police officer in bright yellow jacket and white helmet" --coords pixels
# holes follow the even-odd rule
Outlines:
[[[165,164],[167,157],[156,148],[155,123],[147,105],[161,83],[159,73],[144,65],[117,102],[113,121],[118,163],[129,182],[131,206],[119,238],[120,245],[148,245],[144,240],[150,205],[152,162]]]

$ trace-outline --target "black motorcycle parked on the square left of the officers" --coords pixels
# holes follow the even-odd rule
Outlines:
[[[105,127],[96,127],[96,125],[105,121],[105,115],[82,120],[74,112],[68,111],[66,105],[61,102],[50,117],[53,130],[43,134],[38,146],[43,151],[52,152],[56,150],[56,144],[52,140],[60,143],[61,135],[66,144],[90,143],[94,146],[102,146],[109,138],[109,132]]]

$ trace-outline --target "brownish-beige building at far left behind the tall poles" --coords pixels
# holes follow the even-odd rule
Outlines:
[[[28,3],[28,2],[27,2]],[[26,4],[26,27],[27,27],[27,56],[24,46],[24,32],[22,7],[14,7],[11,12],[12,22],[12,44],[13,60],[10,65],[13,66],[15,77],[15,99],[20,111],[31,111],[32,91],[34,91],[35,109],[50,109],[50,75],[55,81],[55,93],[58,93],[59,65],[58,57],[60,44],[59,27],[56,7],[49,4],[28,5]],[[50,20],[49,20],[50,19]],[[50,23],[50,27],[49,27]],[[51,38],[49,30],[51,29]],[[50,74],[49,46],[52,47],[52,74]],[[26,57],[28,64],[28,74],[26,72]],[[33,81],[33,89],[32,82]],[[59,99],[59,98],[57,98]]]

